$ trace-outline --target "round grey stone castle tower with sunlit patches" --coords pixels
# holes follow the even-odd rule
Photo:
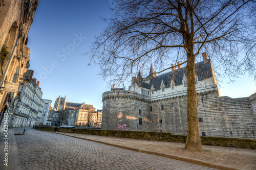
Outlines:
[[[118,125],[125,124],[133,131],[150,131],[148,99],[148,96],[128,90],[104,92],[102,129],[115,130]],[[139,125],[140,118],[142,125]]]

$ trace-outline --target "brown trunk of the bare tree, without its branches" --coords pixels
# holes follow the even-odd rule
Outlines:
[[[203,152],[198,124],[195,56],[193,44],[187,45],[187,49],[187,141],[185,150]]]

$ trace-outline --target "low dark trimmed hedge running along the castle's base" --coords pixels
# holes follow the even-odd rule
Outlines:
[[[38,130],[54,131],[51,127],[34,127]],[[139,131],[110,131],[110,130],[92,130],[92,129],[75,129],[75,128],[58,128],[58,132],[79,133],[87,135],[111,136],[122,138],[134,138],[143,140],[156,140],[166,142],[185,143],[186,136],[172,135],[172,133],[161,132],[139,132]],[[227,137],[209,137],[201,136],[202,144],[215,145],[220,147],[233,147],[242,149],[256,149],[256,139],[227,138]]]

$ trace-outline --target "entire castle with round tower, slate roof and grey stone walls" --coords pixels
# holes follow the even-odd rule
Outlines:
[[[220,96],[211,61],[206,53],[202,56],[203,61],[195,64],[200,135],[256,138],[256,94],[238,99]],[[186,135],[186,76],[181,66],[156,76],[151,65],[148,78],[142,79],[139,71],[129,90],[113,85],[102,96],[102,129],[126,124],[132,131]]]

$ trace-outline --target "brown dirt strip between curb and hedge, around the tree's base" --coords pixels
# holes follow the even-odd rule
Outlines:
[[[148,150],[166,154],[179,155],[193,159],[200,159],[240,169],[256,169],[256,150],[203,145],[204,152],[200,153],[183,150],[185,147],[185,143],[127,139],[117,137],[83,135],[75,133],[63,134],[123,145],[125,147],[137,148],[141,150]]]

